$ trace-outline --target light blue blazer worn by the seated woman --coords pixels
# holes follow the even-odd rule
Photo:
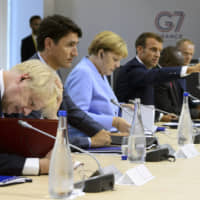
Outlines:
[[[78,107],[105,129],[110,130],[113,117],[118,116],[118,108],[110,102],[110,99],[116,99],[116,96],[106,77],[103,79],[93,64],[90,66],[86,59],[68,75],[64,90]]]

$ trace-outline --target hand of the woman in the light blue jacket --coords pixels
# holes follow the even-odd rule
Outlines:
[[[112,125],[118,129],[120,132],[128,132],[131,128],[131,125],[121,117],[114,117]]]

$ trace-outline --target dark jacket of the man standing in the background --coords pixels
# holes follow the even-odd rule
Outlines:
[[[28,60],[36,52],[32,35],[22,39],[21,44],[21,61]]]

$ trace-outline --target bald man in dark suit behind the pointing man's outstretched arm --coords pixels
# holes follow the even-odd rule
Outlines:
[[[163,49],[161,52],[159,64],[162,67],[182,66],[184,65],[183,54],[173,46]],[[155,106],[156,108],[180,115],[183,92],[186,90],[185,79],[178,79],[171,82],[165,82],[155,85]],[[199,118],[197,106],[189,99],[191,117]]]

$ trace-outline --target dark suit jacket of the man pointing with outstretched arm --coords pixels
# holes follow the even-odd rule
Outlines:
[[[154,85],[180,78],[181,67],[147,69],[136,58],[118,71],[116,95],[121,102],[140,98],[145,105],[154,105]]]

